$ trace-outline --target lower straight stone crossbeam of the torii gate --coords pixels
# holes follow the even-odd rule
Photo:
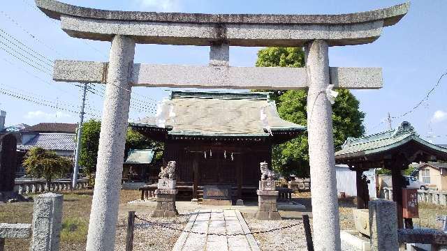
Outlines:
[[[107,82],[108,63],[92,61],[54,62],[54,81]],[[380,89],[381,68],[331,67],[330,82],[340,89]],[[223,89],[306,89],[306,68],[133,65],[133,86]]]

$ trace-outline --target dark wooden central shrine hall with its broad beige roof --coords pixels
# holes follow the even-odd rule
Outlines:
[[[281,119],[269,93],[210,91],[173,91],[156,116],[131,126],[164,142],[163,162],[177,162],[177,185],[196,199],[205,185],[231,187],[233,199],[256,195],[272,145],[306,130]]]

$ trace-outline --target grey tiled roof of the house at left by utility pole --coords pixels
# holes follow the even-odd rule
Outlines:
[[[39,133],[25,144],[17,145],[18,150],[29,150],[39,146],[46,150],[74,151],[76,147],[73,133]]]

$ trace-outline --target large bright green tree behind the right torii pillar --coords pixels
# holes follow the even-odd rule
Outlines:
[[[305,56],[301,48],[268,47],[258,52],[258,67],[305,67]],[[256,90],[257,91],[257,90]],[[365,114],[358,110],[359,102],[349,90],[337,90],[339,95],[332,105],[334,145],[339,149],[347,137],[360,137],[365,133],[362,125]],[[307,125],[307,91],[272,91],[272,100],[277,103],[279,116],[286,121]],[[272,166],[288,176],[309,176],[307,135],[273,147]]]

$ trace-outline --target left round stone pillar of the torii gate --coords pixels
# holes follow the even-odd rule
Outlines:
[[[135,41],[115,36],[105,87],[87,251],[114,250]]]

